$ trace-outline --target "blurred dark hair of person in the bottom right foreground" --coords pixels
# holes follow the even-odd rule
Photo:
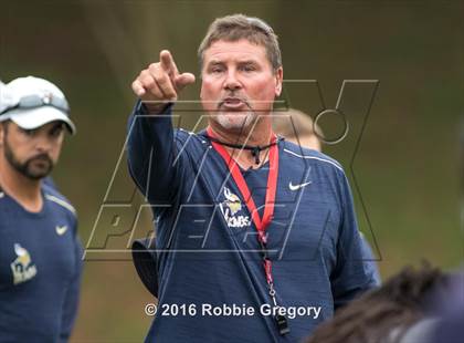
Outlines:
[[[418,270],[405,267],[381,288],[336,312],[307,343],[399,342],[412,324],[429,314],[429,297],[446,285],[447,277],[429,263]]]

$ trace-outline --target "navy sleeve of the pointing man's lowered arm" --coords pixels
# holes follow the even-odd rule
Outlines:
[[[365,263],[365,247],[358,231],[348,180],[342,172],[338,176],[341,218],[337,242],[337,263],[330,276],[335,310],[378,284],[375,274]]]

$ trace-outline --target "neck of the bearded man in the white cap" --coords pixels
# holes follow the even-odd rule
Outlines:
[[[24,209],[39,212],[42,209],[41,180],[33,180],[15,170],[0,157],[0,187]]]

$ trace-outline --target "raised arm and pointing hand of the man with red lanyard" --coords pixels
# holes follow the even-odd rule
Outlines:
[[[139,101],[128,126],[129,172],[151,204],[170,204],[176,191],[179,163],[173,164],[176,145],[170,104],[193,82],[194,75],[180,74],[170,52],[164,50],[159,62],[143,70],[131,84]]]

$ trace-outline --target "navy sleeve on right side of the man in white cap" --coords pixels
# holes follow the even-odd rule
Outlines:
[[[80,300],[80,289],[82,280],[82,269],[83,269],[83,249],[81,240],[75,233],[75,245],[74,245],[74,258],[75,258],[75,270],[74,274],[67,285],[64,302],[63,302],[63,312],[61,319],[61,332],[60,332],[60,342],[67,342],[74,322],[77,314],[78,300]]]

